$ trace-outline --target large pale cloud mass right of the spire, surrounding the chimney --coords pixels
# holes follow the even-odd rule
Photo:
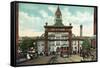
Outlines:
[[[93,14],[84,11],[77,11],[72,14],[68,8],[62,10],[62,19],[65,25],[72,23],[72,32],[76,36],[80,35],[80,25],[83,25],[83,36],[93,35]]]

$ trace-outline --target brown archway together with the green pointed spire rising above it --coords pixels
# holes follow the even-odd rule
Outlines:
[[[50,32],[53,32],[53,33],[56,33],[56,34],[62,34],[64,32],[64,34],[66,35],[66,39],[68,40],[65,40],[65,39],[60,39],[60,38],[54,38],[54,39],[50,39],[50,40],[53,40],[53,41],[66,41],[68,42],[69,46],[67,48],[67,45],[65,47],[65,50],[68,52],[68,55],[71,55],[72,54],[72,26],[70,24],[70,26],[64,26],[64,24],[62,23],[62,14],[61,14],[61,11],[60,11],[60,8],[59,6],[57,7],[57,10],[55,12],[55,24],[54,25],[48,25],[47,24],[44,26],[45,28],[45,34],[44,34],[44,40],[45,40],[45,55],[48,56],[49,55],[49,46],[48,46],[48,37],[49,37],[49,33]],[[60,35],[61,37],[62,35]],[[58,44],[57,44],[58,45]],[[59,49],[59,48],[58,48]],[[62,50],[63,52],[65,51],[64,49]]]

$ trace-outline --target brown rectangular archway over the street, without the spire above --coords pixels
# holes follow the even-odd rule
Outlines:
[[[45,25],[45,55],[48,55],[48,41],[69,41],[69,54],[72,53],[72,26],[63,26],[63,27],[55,27],[55,26],[47,26]],[[48,39],[48,33],[49,32],[67,32],[68,33],[68,39]],[[67,34],[66,34],[67,35]]]

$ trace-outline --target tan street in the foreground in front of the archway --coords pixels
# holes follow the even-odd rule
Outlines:
[[[53,64],[66,62],[91,61],[91,58],[83,59],[79,55],[71,55],[70,57],[60,57],[59,55],[39,56],[36,59],[28,60],[18,65],[35,65],[35,64]]]

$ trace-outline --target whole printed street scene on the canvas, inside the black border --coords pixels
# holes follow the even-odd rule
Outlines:
[[[97,61],[97,8],[16,3],[16,65]]]

